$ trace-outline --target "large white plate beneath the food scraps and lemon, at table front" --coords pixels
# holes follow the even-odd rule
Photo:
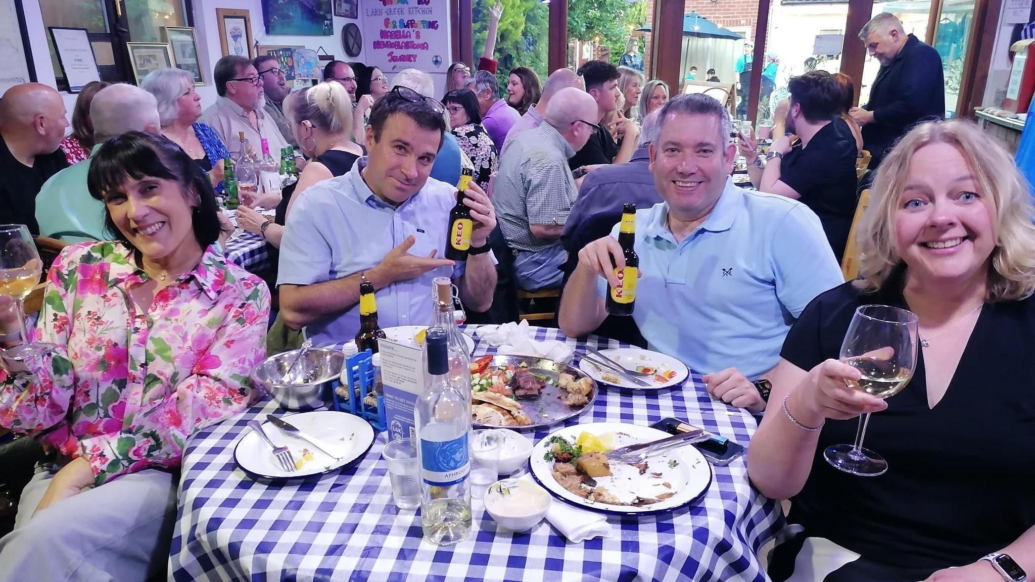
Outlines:
[[[688,503],[692,503],[693,501],[700,499],[711,485],[711,465],[708,464],[708,461],[705,460],[700,450],[698,450],[693,445],[687,444],[686,446],[674,448],[662,455],[647,459],[648,469],[643,475],[640,475],[639,469],[634,467],[612,464],[613,475],[617,472],[622,472],[616,481],[621,482],[624,485],[623,489],[625,489],[626,494],[637,493],[641,495],[656,495],[658,491],[673,491],[676,494],[672,497],[662,499],[657,503],[651,503],[650,505],[643,505],[639,507],[635,505],[613,505],[610,503],[599,503],[584,499],[574,493],[571,493],[567,489],[564,489],[559,483],[557,483],[557,479],[554,478],[553,474],[554,461],[548,461],[545,459],[545,454],[550,449],[550,437],[559,436],[567,438],[569,441],[573,441],[579,438],[580,433],[583,432],[593,435],[615,433],[617,435],[617,441],[615,443],[616,446],[627,446],[641,442],[651,442],[672,436],[664,431],[652,429],[650,427],[642,427],[640,425],[625,425],[622,423],[593,423],[590,425],[565,427],[555,431],[546,438],[543,438],[535,444],[535,447],[532,448],[532,457],[529,460],[532,469],[532,476],[534,476],[539,484],[546,488],[548,491],[554,494],[554,496],[569,503],[581,505],[596,512],[610,514],[650,515],[671,512]],[[625,473],[632,475],[630,477],[631,481],[624,478],[626,476]],[[655,477],[652,473],[661,474]],[[609,483],[604,482],[605,478],[610,477],[600,477],[597,479],[597,483],[607,486]],[[659,489],[659,484],[661,483],[668,483],[672,486],[672,488]],[[621,491],[618,491],[617,487],[609,487],[608,489],[613,493],[621,493]]]

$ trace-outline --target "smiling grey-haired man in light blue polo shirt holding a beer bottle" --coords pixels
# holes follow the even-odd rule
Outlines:
[[[759,412],[765,402],[748,379],[776,366],[791,324],[814,297],[844,283],[840,269],[805,205],[733,185],[736,146],[717,100],[680,95],[659,115],[650,159],[663,202],[637,211],[632,319],[651,349],[704,373],[713,396]],[[625,264],[617,233],[616,226],[579,253],[561,301],[568,337],[607,317],[608,282],[617,285],[612,262]]]

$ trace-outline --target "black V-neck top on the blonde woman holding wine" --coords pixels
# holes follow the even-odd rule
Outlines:
[[[906,307],[900,285],[885,288],[866,294],[846,283],[821,294],[791,328],[780,355],[802,370],[837,358],[856,308]],[[922,352],[913,379],[866,429],[863,445],[887,460],[888,471],[860,477],[831,467],[823,449],[852,443],[859,421],[827,419],[788,517],[809,536],[912,568],[903,582],[976,561],[1035,524],[1035,298],[984,305],[934,409]],[[925,573],[916,577],[916,569]]]

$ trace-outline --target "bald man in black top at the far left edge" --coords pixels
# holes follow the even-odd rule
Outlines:
[[[36,194],[68,166],[58,149],[68,127],[64,101],[47,85],[16,85],[0,100],[0,223],[39,234]]]

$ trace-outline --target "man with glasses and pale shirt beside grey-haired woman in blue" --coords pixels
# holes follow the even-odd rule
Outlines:
[[[266,105],[263,82],[252,61],[236,55],[223,57],[216,61],[212,77],[219,97],[205,111],[202,120],[215,129],[235,159],[241,149],[238,134],[243,132],[256,151],[262,138],[266,138],[270,155],[279,164],[280,150],[288,142],[263,109]]]

